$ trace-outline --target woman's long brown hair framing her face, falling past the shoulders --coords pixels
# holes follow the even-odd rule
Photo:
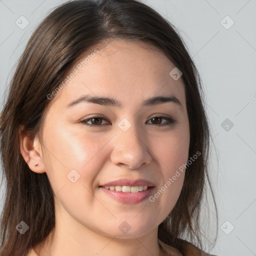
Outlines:
[[[0,118],[5,201],[1,213],[1,256],[26,255],[54,228],[53,191],[46,173],[31,171],[19,149],[19,125],[34,138],[40,131],[46,95],[63,80],[79,56],[107,39],[143,41],[160,49],[182,72],[189,119],[189,157],[176,205],[158,226],[158,238],[182,252],[181,239],[202,248],[199,225],[208,180],[209,127],[201,80],[176,28],[137,0],[75,0],[53,10],[30,37],[9,85]],[[216,204],[210,185],[214,206]],[[29,229],[21,234],[16,226]]]

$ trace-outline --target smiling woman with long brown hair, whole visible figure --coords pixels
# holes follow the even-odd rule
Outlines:
[[[182,39],[145,4],[52,11],[1,113],[0,255],[209,255],[200,92]]]

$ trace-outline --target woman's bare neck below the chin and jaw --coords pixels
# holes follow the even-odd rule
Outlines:
[[[34,250],[40,256],[161,256],[157,229],[140,237],[119,238],[96,232],[71,217],[67,219],[56,214],[55,228],[41,248],[38,245]]]

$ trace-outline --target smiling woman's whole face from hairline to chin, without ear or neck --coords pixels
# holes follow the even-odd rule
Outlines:
[[[46,108],[44,171],[57,216],[97,233],[139,237],[166,218],[182,188],[177,170],[189,147],[182,77],[174,80],[175,65],[141,42],[116,39],[90,52]],[[85,95],[114,100],[71,104]],[[144,104],[156,96],[171,99]]]

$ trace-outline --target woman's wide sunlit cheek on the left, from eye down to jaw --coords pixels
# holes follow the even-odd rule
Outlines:
[[[46,137],[47,130],[51,132]],[[95,204],[94,180],[104,161],[101,149],[109,138],[91,137],[82,130],[76,133],[73,129],[59,130],[45,129],[43,152],[47,176],[57,198],[55,204],[74,215],[81,209],[89,212]]]

